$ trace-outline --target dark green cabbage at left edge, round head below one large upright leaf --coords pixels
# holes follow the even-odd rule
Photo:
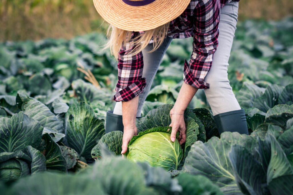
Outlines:
[[[42,139],[43,127],[23,112],[0,118],[0,180],[15,180],[46,170],[45,156],[33,147]]]

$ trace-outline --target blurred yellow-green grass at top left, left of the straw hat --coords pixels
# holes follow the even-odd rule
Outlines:
[[[66,38],[102,24],[91,0],[1,0],[0,41]]]

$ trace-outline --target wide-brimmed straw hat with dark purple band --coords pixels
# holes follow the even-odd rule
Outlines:
[[[109,24],[127,31],[146,31],[164,25],[184,12],[190,0],[93,0]]]

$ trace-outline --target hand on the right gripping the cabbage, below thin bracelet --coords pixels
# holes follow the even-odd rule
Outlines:
[[[179,131],[179,143],[183,144],[186,141],[186,126],[184,121],[184,111],[175,111],[173,108],[170,110],[171,124],[171,141],[176,139],[176,133]]]

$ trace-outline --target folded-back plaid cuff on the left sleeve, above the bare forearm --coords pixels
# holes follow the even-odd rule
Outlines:
[[[147,85],[146,78],[140,78],[126,88],[120,90],[114,95],[114,101],[127,102],[135,96],[143,92],[143,88]]]

